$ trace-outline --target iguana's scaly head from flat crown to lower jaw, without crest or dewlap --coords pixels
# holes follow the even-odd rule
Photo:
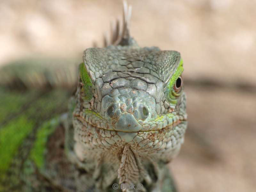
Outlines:
[[[182,71],[176,51],[120,45],[85,50],[74,113],[75,127],[80,124],[76,140],[83,142],[94,130],[89,139],[94,147],[122,150],[129,144],[170,160],[187,125]]]

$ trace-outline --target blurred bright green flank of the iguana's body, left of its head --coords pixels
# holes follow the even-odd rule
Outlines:
[[[47,138],[59,124],[59,114],[67,111],[69,97],[60,89],[17,92],[0,87],[1,192],[38,188],[35,169],[44,169]]]

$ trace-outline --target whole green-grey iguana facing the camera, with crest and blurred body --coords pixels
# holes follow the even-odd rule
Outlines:
[[[73,94],[54,84],[58,71],[31,69],[25,80],[16,71],[10,79],[25,92],[1,86],[0,191],[176,191],[166,164],[187,128],[183,62],[141,48],[130,17],[124,3],[110,45],[84,51]]]

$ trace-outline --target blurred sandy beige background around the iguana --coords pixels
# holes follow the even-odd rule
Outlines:
[[[138,44],[177,50],[184,61],[189,126],[170,164],[180,192],[255,191],[256,1],[128,4]],[[1,0],[0,70],[24,58],[82,61],[121,16],[118,0]]]

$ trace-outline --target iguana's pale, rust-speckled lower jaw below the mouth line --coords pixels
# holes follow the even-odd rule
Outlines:
[[[117,153],[128,144],[133,150],[143,154],[161,153],[166,160],[173,157],[172,151],[179,150],[187,127],[187,121],[178,121],[157,131],[120,132],[95,127],[79,117],[73,119],[73,124],[76,142],[83,143],[86,148],[106,149]]]

